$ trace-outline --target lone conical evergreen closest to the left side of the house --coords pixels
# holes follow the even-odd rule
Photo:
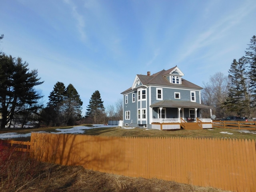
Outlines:
[[[98,122],[104,116],[104,105],[100,98],[100,92],[96,90],[90,98],[89,105],[87,106],[86,116],[90,116],[94,119],[94,124]],[[97,121],[96,121],[97,120]]]

